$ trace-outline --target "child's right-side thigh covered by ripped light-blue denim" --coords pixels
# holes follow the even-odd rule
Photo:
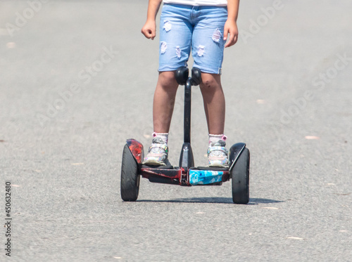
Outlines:
[[[202,72],[221,74],[224,56],[226,8],[204,8],[192,36],[194,67]]]

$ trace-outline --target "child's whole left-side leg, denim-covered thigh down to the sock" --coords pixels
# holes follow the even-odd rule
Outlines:
[[[153,100],[153,129],[168,133],[175,104],[175,70],[187,65],[191,52],[191,6],[164,4],[160,22],[159,77]]]

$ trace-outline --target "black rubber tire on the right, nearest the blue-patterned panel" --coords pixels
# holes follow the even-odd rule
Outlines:
[[[244,148],[232,169],[232,201],[234,204],[248,204],[249,202],[249,162],[249,150]]]

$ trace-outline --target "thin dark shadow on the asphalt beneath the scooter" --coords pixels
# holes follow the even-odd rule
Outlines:
[[[170,200],[137,200],[137,202],[167,202],[167,203],[218,203],[218,204],[234,204],[231,197],[191,197],[191,198],[177,198]],[[249,205],[253,204],[270,204],[281,203],[284,201],[266,199],[266,198],[250,198]]]

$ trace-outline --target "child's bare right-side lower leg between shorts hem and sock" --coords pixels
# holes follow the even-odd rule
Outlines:
[[[223,134],[225,126],[225,96],[220,74],[202,73],[200,84],[208,131],[213,135]]]

